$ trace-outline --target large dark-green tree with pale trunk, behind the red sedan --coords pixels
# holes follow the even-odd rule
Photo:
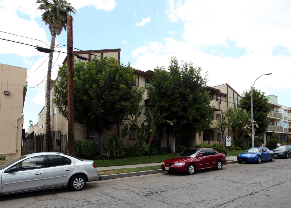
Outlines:
[[[203,78],[201,68],[193,67],[191,62],[179,66],[176,57],[171,58],[168,71],[157,67],[148,86],[149,107],[159,104],[161,114],[173,123],[166,127],[172,134],[171,152],[175,152],[175,135],[196,133],[210,128],[213,108],[210,106],[210,93],[203,87],[207,85],[207,73]]]

